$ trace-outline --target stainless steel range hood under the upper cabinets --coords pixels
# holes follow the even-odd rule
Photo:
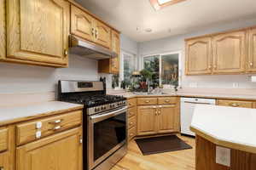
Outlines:
[[[86,41],[76,36],[70,36],[71,54],[78,54],[90,59],[110,59],[117,57],[118,54],[114,53],[108,48],[103,48],[93,42]]]

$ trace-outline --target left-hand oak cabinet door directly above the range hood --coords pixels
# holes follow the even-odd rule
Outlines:
[[[94,19],[90,14],[86,14],[73,5],[71,6],[71,32],[73,35],[93,41],[93,22]]]

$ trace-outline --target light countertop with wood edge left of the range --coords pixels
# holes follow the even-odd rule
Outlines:
[[[55,115],[66,111],[82,109],[83,105],[60,101],[49,101],[33,105],[19,105],[0,107],[0,126],[28,121],[41,116]]]

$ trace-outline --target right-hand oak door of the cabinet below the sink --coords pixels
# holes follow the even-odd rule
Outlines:
[[[158,133],[179,132],[177,105],[160,105],[158,109]]]

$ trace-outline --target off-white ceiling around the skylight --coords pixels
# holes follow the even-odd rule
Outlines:
[[[76,2],[137,42],[256,17],[255,0],[187,0],[159,11],[154,10],[149,0]],[[147,29],[152,31],[145,31]]]

